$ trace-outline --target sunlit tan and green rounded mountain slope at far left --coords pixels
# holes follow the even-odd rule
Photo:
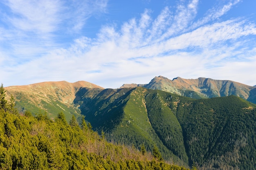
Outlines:
[[[68,83],[43,82],[23,86],[6,87],[7,97],[13,95],[16,99],[16,107],[19,111],[31,111],[33,114],[45,111],[50,118],[55,118],[59,112],[63,112],[70,120],[72,115],[76,117],[81,111],[74,105],[76,92],[82,88],[100,88],[86,81]]]

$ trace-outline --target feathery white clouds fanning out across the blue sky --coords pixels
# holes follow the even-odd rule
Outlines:
[[[148,83],[154,76],[162,75],[168,78],[202,76],[253,83],[244,75],[250,72],[252,77],[256,77],[256,50],[253,47],[255,23],[242,17],[217,20],[238,2],[229,1],[213,7],[199,20],[195,20],[199,10],[198,0],[189,3],[181,1],[177,9],[165,7],[156,18],[151,17],[150,9],[146,9],[140,18],[132,18],[122,26],[102,26],[96,38],[81,35],[68,48],[58,47],[54,37],[51,37],[56,36],[52,32],[65,29],[59,27],[65,21],[69,22],[66,24],[69,31],[79,32],[88,17],[107,12],[107,1],[85,1],[82,4],[79,1],[69,6],[63,6],[67,4],[62,1],[49,1],[49,4],[55,3],[49,8],[49,4],[42,2],[40,8],[45,9],[38,10],[35,16],[49,9],[49,15],[51,13],[54,16],[51,19],[47,19],[48,14],[41,18],[31,16],[30,10],[16,9],[19,3],[12,4],[11,9],[24,16],[20,23],[14,24],[20,26],[19,33],[23,34],[25,30],[25,35],[20,37],[26,36],[31,29],[37,33],[46,33],[50,38],[45,41],[39,39],[41,43],[36,44],[33,42],[38,39],[28,39],[24,46],[24,39],[16,41],[16,44],[12,42],[15,45],[14,54],[40,57],[29,57],[28,61],[17,64],[15,68],[4,67],[1,74],[5,76],[1,81],[9,80],[9,76],[13,79],[11,85],[16,85],[15,82],[29,84],[85,80],[102,87],[117,88],[123,83]],[[32,8],[33,3],[29,5]],[[39,8],[39,4],[36,5]],[[60,11],[66,13],[61,15]],[[71,13],[73,15],[69,16]],[[24,24],[26,22],[32,25],[31,28]],[[1,28],[0,34],[4,31]],[[0,58],[0,66],[12,62],[13,59],[6,61]]]

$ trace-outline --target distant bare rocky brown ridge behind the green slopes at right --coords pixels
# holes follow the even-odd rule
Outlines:
[[[211,78],[184,79],[158,76],[145,85],[124,84],[124,87],[146,87],[171,92],[190,98],[213,98],[223,96],[238,96],[250,102],[256,103],[256,87],[229,80],[213,80]]]

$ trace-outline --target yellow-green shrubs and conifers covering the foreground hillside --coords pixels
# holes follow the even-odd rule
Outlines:
[[[68,123],[61,112],[55,120],[45,113],[19,115],[0,87],[0,169],[166,169],[186,168],[164,163],[157,147],[153,156],[135,147],[106,142],[82,120]]]

